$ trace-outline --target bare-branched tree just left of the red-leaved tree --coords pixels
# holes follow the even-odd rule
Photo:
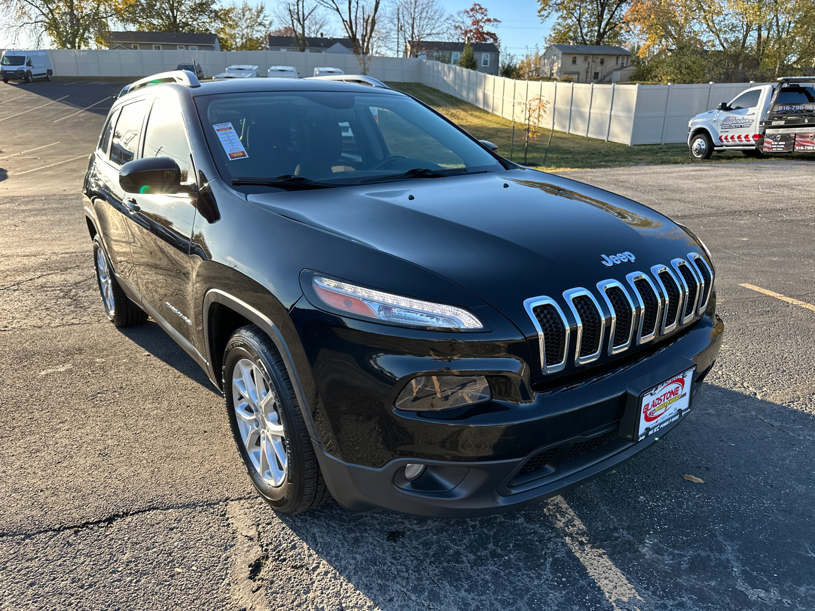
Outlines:
[[[410,56],[416,57],[422,41],[450,32],[452,17],[436,0],[396,0],[385,13],[384,21],[396,37],[397,55],[403,55],[410,42]]]

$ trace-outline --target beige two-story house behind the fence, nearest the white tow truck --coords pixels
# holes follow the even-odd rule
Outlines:
[[[544,74],[557,81],[611,82],[615,69],[631,65],[631,51],[610,45],[549,45],[543,64]]]

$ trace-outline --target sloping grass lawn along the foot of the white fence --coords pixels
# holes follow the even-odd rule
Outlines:
[[[500,147],[500,154],[510,158],[512,143],[512,121],[476,108],[470,103],[447,95],[441,91],[419,83],[388,83],[393,89],[404,91],[424,103],[429,104],[451,121],[463,127],[470,134],[481,140],[489,140]],[[523,126],[515,124],[515,146],[512,160],[523,161]],[[529,143],[527,165],[537,165],[540,169],[564,170],[586,168],[613,168],[627,165],[662,165],[687,163],[722,163],[726,161],[752,161],[740,151],[714,153],[711,160],[697,161],[690,156],[685,144],[645,144],[629,147],[626,144],[604,142],[595,138],[584,138],[574,134],[555,131],[552,144],[544,164],[544,152],[551,130],[543,133]],[[764,157],[765,159],[768,157]],[[806,158],[800,155],[776,156],[777,159]],[[809,156],[811,158],[811,156]]]

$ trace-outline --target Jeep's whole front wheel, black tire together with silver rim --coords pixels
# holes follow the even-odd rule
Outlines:
[[[232,334],[222,380],[232,437],[263,499],[289,514],[330,499],[283,359],[259,327]]]

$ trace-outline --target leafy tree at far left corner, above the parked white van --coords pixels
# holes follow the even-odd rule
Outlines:
[[[57,49],[83,49],[95,46],[117,7],[111,0],[0,0],[0,14],[0,30],[12,40],[25,34],[37,46],[47,38]]]

